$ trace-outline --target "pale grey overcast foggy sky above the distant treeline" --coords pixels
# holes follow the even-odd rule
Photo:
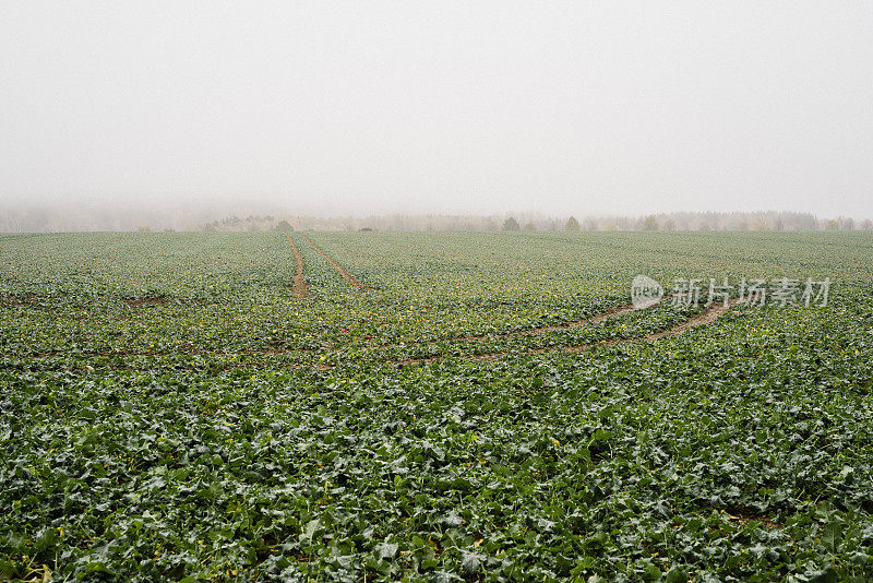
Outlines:
[[[873,3],[0,3],[0,202],[873,217]]]

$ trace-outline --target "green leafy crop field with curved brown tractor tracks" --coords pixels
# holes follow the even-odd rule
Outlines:
[[[873,237],[0,235],[0,580],[871,581]]]

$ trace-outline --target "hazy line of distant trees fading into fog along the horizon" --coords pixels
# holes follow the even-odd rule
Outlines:
[[[286,214],[224,215],[206,210],[123,211],[1,207],[0,233],[53,231],[262,231],[262,230],[872,230],[869,218],[820,218],[809,213],[659,213],[644,216],[542,216],[515,213],[475,215],[380,215],[313,217]],[[222,215],[218,215],[222,216]]]

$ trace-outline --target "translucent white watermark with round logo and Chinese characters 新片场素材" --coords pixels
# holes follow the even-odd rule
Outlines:
[[[790,277],[751,278],[743,277],[739,282],[730,282],[728,277],[720,279],[710,277],[708,285],[703,278],[673,277],[670,290],[670,305],[675,307],[697,307],[702,301],[705,307],[721,304],[725,307],[731,297],[751,306],[827,306],[830,293],[830,278],[805,281]],[[648,308],[661,301],[665,288],[647,275],[637,275],[631,284],[631,301],[634,309]]]

